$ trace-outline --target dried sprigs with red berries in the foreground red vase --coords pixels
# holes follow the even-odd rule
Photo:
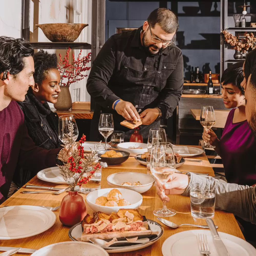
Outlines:
[[[76,149],[77,143],[74,142],[74,129],[73,125],[70,122],[68,124],[68,134],[65,134],[67,137],[66,146],[69,147],[70,157],[68,162],[64,165],[58,165],[61,170],[61,175],[67,182],[70,187],[70,191],[79,191],[82,184],[86,184],[92,175],[100,169],[101,167],[107,167],[106,163],[99,162],[100,158],[98,157],[98,149],[101,145],[101,142],[95,144],[94,150],[91,148],[91,153],[84,155],[84,150],[82,143],[86,141],[86,136],[83,135],[79,140],[79,146]],[[61,153],[59,159],[63,161],[66,154]],[[92,167],[95,165],[94,167]],[[86,177],[83,177],[85,173],[88,173]]]

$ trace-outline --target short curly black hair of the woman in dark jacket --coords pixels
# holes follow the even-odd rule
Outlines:
[[[58,68],[57,55],[55,53],[50,54],[47,51],[40,50],[34,55],[35,63],[35,73],[34,80],[35,83],[41,84],[46,78],[47,71],[50,69]]]

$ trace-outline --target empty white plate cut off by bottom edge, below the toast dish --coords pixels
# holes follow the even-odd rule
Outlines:
[[[31,256],[109,256],[109,254],[93,243],[61,242],[45,246]]]

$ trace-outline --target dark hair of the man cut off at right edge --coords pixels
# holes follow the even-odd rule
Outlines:
[[[244,75],[246,78],[246,82],[248,81],[249,76],[251,75],[250,83],[256,89],[256,51],[250,51],[246,57],[244,62]]]

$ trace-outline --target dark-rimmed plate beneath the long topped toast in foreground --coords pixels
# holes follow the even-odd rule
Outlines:
[[[131,251],[137,251],[137,250],[140,250],[142,248],[145,248],[145,247],[148,247],[150,246],[151,244],[155,243],[161,236],[162,234],[164,233],[164,229],[163,227],[153,221],[153,220],[149,220],[147,219],[147,222],[148,222],[148,226],[150,226],[150,229],[153,231],[153,232],[158,232],[157,234],[157,237],[156,238],[153,238],[151,239],[149,242],[147,243],[142,243],[142,244],[134,244],[134,245],[128,245],[128,246],[116,246],[116,247],[108,247],[108,248],[105,248],[105,250],[109,253],[111,252],[131,252]],[[79,239],[81,239],[81,236],[82,236],[82,223],[77,223],[76,225],[74,225],[73,227],[70,228],[69,232],[68,232],[68,235],[69,235],[69,238],[73,241],[77,241]],[[82,243],[85,243],[85,242],[82,242]],[[125,254],[123,254],[125,255]],[[133,254],[132,254],[133,255]],[[135,254],[134,254],[135,255]],[[32,256],[32,255],[31,255]],[[34,256],[34,255],[33,255]],[[36,255],[35,255],[36,256]],[[62,255],[63,256],[63,255]]]

